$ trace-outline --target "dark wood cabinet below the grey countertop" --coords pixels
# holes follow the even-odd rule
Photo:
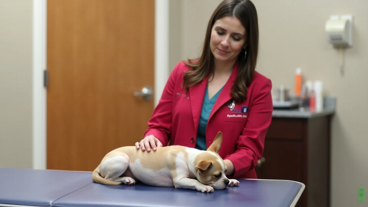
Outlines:
[[[330,119],[272,118],[256,172],[259,179],[304,183],[297,207],[330,206]]]

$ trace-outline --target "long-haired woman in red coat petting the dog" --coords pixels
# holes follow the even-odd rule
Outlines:
[[[200,150],[223,133],[219,151],[230,178],[256,178],[272,119],[271,81],[255,71],[258,18],[250,0],[224,0],[208,23],[202,55],[171,72],[137,149]]]

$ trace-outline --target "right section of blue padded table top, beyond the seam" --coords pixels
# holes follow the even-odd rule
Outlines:
[[[54,202],[56,207],[197,207],[197,206],[294,206],[304,184],[289,180],[241,179],[236,187],[202,193],[174,187],[143,184],[91,183]],[[296,201],[295,201],[296,200]]]

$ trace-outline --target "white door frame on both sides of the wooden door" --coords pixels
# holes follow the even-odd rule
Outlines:
[[[46,169],[46,88],[43,73],[47,51],[47,0],[33,0],[32,39],[32,167]],[[169,77],[169,0],[155,0],[154,104],[157,105]]]

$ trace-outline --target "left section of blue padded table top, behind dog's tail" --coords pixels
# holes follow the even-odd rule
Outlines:
[[[92,183],[91,172],[0,168],[0,204],[52,206]]]

